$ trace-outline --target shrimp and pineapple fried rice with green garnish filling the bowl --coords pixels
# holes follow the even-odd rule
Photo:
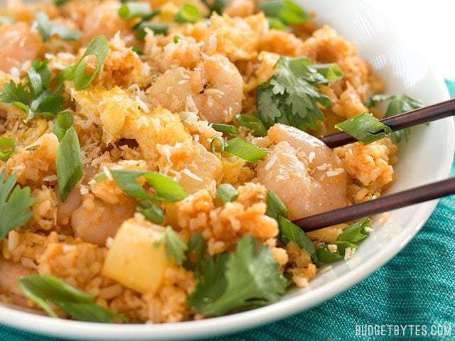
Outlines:
[[[308,234],[292,220],[380,196],[409,131],[386,134],[375,104],[422,104],[382,94],[313,16],[289,0],[1,9],[1,301],[195,320],[352,257],[370,220]],[[331,150],[318,137],[336,129],[360,142]]]

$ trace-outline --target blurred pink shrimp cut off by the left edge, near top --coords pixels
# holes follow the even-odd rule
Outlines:
[[[27,23],[4,23],[0,26],[0,46],[0,70],[10,72],[26,60],[36,59],[43,42]]]

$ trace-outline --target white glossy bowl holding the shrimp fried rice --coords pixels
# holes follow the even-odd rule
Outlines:
[[[432,104],[449,98],[439,75],[405,45],[392,24],[360,0],[297,0],[316,11],[321,23],[336,28],[357,43],[360,55],[370,60],[387,84],[389,93],[407,93]],[[413,188],[449,176],[455,146],[454,119],[414,129],[400,146],[398,180],[390,192]],[[272,305],[244,313],[164,325],[107,325],[57,320],[0,306],[0,323],[45,335],[97,340],[196,339],[237,332],[311,308],[346,290],[395,256],[414,237],[436,206],[436,201],[392,212],[386,224],[363,242],[353,259],[333,264],[316,276],[309,288],[295,290]]]

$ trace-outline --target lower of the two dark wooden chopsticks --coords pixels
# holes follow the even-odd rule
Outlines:
[[[400,193],[385,195],[384,197],[361,202],[360,204],[342,207],[338,210],[294,220],[294,224],[304,229],[305,232],[309,232],[453,194],[455,194],[455,178],[450,178],[437,183],[412,188],[411,190],[404,190]]]

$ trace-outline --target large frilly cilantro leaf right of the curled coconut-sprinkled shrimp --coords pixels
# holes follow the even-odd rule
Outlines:
[[[338,80],[339,69],[324,65],[321,72],[330,75],[326,78],[314,66],[305,58],[282,57],[272,78],[257,87],[257,110],[267,128],[278,122],[301,130],[316,129],[318,121],[323,121],[318,103],[323,107],[333,103],[315,85]]]

